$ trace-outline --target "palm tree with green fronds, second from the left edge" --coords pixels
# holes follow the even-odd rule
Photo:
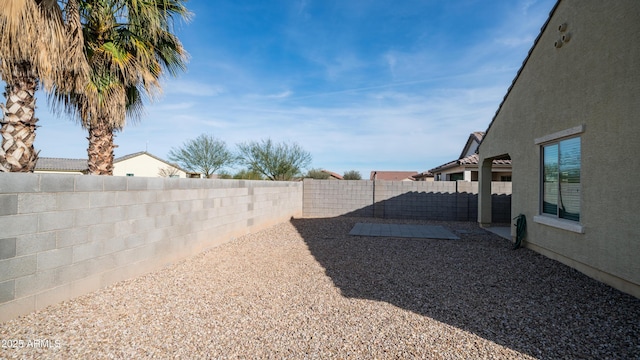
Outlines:
[[[187,19],[184,0],[84,0],[85,51],[91,66],[81,93],[58,100],[89,132],[89,172],[113,175],[114,133],[127,116],[138,120],[145,98],[161,90],[165,72],[186,66],[186,52],[171,33],[173,18]]]

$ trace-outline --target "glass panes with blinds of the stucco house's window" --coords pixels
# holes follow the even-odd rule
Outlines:
[[[580,137],[542,145],[542,214],[580,221]]]

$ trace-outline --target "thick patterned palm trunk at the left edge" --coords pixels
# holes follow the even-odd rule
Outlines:
[[[0,172],[33,172],[38,161],[38,152],[33,147],[38,122],[34,116],[38,78],[31,64],[23,62],[14,68],[6,82],[7,105],[0,104],[4,113],[0,121]]]

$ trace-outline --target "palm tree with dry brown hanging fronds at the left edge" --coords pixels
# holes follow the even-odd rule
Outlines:
[[[0,172],[33,172],[35,92],[81,91],[88,67],[82,51],[77,0],[3,0],[0,6],[0,77],[7,104],[0,135]]]

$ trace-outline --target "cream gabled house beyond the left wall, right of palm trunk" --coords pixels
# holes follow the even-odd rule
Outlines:
[[[114,176],[193,177],[176,164],[169,163],[146,151],[113,160]]]

